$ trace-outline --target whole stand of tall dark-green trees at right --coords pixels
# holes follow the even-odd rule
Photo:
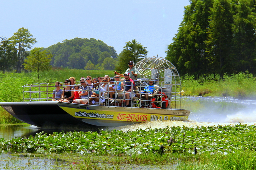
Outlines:
[[[256,1],[190,0],[168,46],[180,75],[256,74]]]

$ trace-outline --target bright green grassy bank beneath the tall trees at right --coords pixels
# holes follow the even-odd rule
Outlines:
[[[251,73],[238,73],[222,79],[194,80],[193,76],[182,78],[183,95],[232,96],[235,98],[255,98],[256,78]]]

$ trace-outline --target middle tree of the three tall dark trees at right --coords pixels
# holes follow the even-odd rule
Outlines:
[[[205,41],[209,53],[209,65],[214,75],[223,78],[224,73],[232,74],[231,42],[233,14],[230,0],[215,0],[209,17],[209,35]]]

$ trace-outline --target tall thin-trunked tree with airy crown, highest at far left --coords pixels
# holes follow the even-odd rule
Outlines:
[[[25,60],[25,51],[31,49],[31,45],[35,44],[37,41],[33,38],[33,35],[30,34],[28,29],[20,28],[17,32],[13,34],[10,38],[11,42],[17,46],[18,58],[17,58],[17,68],[16,73],[21,73],[22,64]]]

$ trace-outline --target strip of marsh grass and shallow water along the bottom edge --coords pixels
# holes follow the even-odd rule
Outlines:
[[[161,170],[255,170],[256,152],[230,150],[225,153],[201,154],[173,153],[120,156],[99,156],[97,154],[33,154],[14,153],[12,157],[1,158],[1,169],[70,169],[70,170],[119,170],[119,169],[161,169]]]

